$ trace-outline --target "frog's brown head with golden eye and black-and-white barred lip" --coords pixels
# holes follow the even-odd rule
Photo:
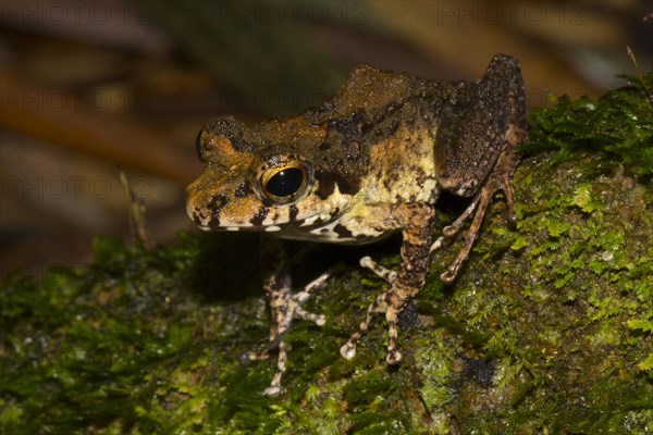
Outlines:
[[[204,173],[188,186],[188,216],[205,231],[266,231],[301,238],[336,220],[359,173],[329,152],[337,138],[304,117],[246,127],[211,120],[197,137]],[[346,167],[345,167],[346,166]]]

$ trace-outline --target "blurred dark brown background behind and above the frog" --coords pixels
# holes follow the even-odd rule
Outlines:
[[[529,108],[652,67],[646,1],[1,1],[0,270],[88,261],[130,234],[116,166],[155,243],[193,225],[184,189],[211,116],[319,105],[358,63],[476,79],[520,59]]]

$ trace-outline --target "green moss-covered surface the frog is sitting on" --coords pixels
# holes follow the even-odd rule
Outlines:
[[[402,318],[401,366],[380,319],[340,357],[383,288],[352,261],[309,303],[326,325],[287,335],[286,391],[266,398],[274,359],[237,358],[268,331],[256,238],[102,238],[87,269],[3,282],[0,432],[652,433],[653,102],[633,80],[530,122],[516,227],[494,201],[453,285],[438,276],[460,241],[435,254]],[[367,252],[397,263],[392,243]]]

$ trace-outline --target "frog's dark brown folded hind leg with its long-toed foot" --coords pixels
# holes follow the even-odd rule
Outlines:
[[[441,275],[446,283],[454,281],[469,256],[488,204],[497,190],[505,192],[508,220],[515,221],[512,181],[518,161],[515,149],[527,137],[523,82],[515,58],[495,55],[481,80],[469,89],[466,96],[469,107],[444,114],[435,147],[442,187],[465,197],[476,194],[467,210],[444,228],[444,235],[451,237],[473,214],[465,246]]]

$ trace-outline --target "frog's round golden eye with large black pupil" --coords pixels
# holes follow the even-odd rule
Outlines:
[[[309,176],[306,163],[289,160],[263,172],[261,190],[268,199],[276,203],[288,203],[306,191]]]

